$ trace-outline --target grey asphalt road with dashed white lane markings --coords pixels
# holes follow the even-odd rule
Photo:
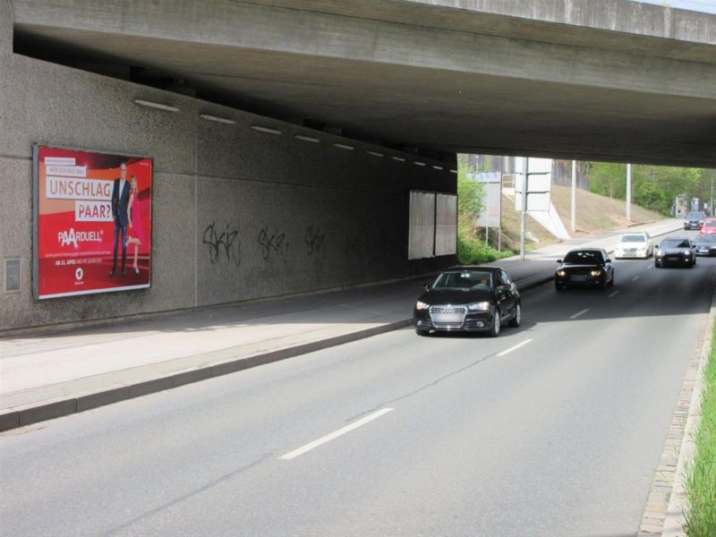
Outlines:
[[[498,338],[398,330],[9,431],[0,533],[634,535],[715,265],[618,261]]]

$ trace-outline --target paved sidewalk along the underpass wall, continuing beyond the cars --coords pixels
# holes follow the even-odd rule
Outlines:
[[[638,227],[652,236],[681,228],[677,219]],[[569,249],[611,251],[618,234],[634,230],[565,241],[495,264],[524,292],[550,281],[555,260]],[[0,430],[410,326],[428,279],[0,338]]]

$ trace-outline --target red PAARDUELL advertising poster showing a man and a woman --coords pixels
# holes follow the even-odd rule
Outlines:
[[[34,149],[37,297],[149,287],[151,158]]]

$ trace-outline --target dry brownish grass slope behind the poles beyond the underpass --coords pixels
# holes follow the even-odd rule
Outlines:
[[[562,218],[567,231],[572,234],[570,213],[572,189],[552,184],[551,200]],[[661,220],[659,213],[632,204],[631,221],[626,220],[626,202],[610,200],[592,192],[576,190],[576,233],[574,237],[587,236],[613,229],[638,227],[639,224]],[[515,210],[515,201],[502,196],[502,249],[519,249],[520,213]],[[545,244],[558,243],[559,239],[540,226],[532,217],[527,218],[527,250]],[[497,234],[490,234],[490,245],[497,246]]]

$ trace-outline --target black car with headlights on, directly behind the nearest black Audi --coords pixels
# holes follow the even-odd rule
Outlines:
[[[567,251],[564,260],[557,260],[554,286],[558,291],[567,286],[592,286],[606,289],[614,285],[614,264],[601,248]]]

